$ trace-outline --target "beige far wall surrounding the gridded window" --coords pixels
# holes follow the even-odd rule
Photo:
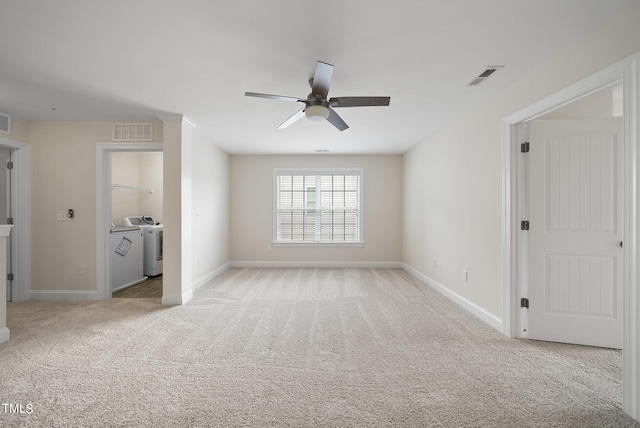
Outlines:
[[[365,246],[272,246],[273,169],[364,169]],[[236,262],[399,262],[402,157],[232,156],[231,260]],[[271,251],[269,251],[271,248]]]

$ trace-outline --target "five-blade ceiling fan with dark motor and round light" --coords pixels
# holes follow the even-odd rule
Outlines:
[[[333,75],[333,65],[326,62],[318,61],[316,64],[316,71],[311,79],[309,79],[309,85],[311,86],[311,93],[304,98],[287,97],[282,95],[269,95],[260,94],[256,92],[245,92],[247,97],[268,98],[272,100],[281,101],[295,101],[298,103],[304,103],[304,108],[298,110],[289,119],[282,122],[278,127],[279,129],[287,128],[292,123],[296,122],[302,116],[307,116],[309,120],[321,121],[328,120],[333,126],[340,131],[344,131],[349,127],[334,108],[338,107],[374,107],[374,106],[388,106],[390,97],[335,97],[327,100],[327,94],[329,93],[329,85],[331,85],[331,76]]]

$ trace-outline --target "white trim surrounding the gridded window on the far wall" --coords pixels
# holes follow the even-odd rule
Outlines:
[[[281,175],[358,175],[358,236],[359,241],[278,241],[278,176]],[[364,168],[274,168],[273,169],[273,209],[271,225],[273,228],[271,244],[291,247],[360,247],[364,240]]]

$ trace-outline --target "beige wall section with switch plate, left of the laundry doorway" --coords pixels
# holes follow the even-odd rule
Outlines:
[[[112,133],[112,122],[29,123],[32,290],[96,290],[96,143]],[[69,208],[75,217],[58,221]]]

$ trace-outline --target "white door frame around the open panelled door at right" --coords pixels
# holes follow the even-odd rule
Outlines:
[[[517,127],[552,110],[622,83],[624,96],[623,119],[623,410],[638,420],[640,409],[640,327],[638,326],[638,254],[640,228],[638,224],[638,174],[640,135],[638,100],[640,98],[640,53],[631,55],[585,79],[582,79],[502,121],[502,289],[503,333],[512,338],[526,337],[520,308],[523,274],[523,239],[519,230],[519,195],[522,192]],[[526,324],[525,324],[526,325]]]

